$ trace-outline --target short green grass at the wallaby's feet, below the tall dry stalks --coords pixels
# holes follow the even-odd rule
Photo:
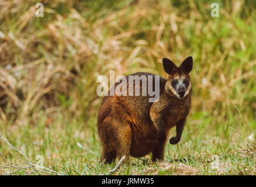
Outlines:
[[[101,144],[95,128],[96,117],[88,123],[82,120],[66,120],[59,113],[54,123],[46,125],[41,116],[37,126],[9,127],[8,139],[13,146],[20,148],[34,164],[36,156],[42,155],[44,167],[64,175],[107,174],[115,167],[99,162]],[[200,119],[200,122],[198,120]],[[243,151],[243,133],[236,129],[227,133],[222,126],[210,128],[211,120],[206,113],[190,115],[182,140],[177,146],[168,144],[165,148],[165,161],[151,162],[151,155],[132,158],[117,175],[251,175],[255,174],[254,155]],[[229,122],[227,122],[229,124]],[[209,133],[209,129],[210,133]],[[230,137],[229,134],[237,134]],[[233,139],[233,140],[232,140]],[[80,143],[84,148],[78,146]],[[238,143],[241,145],[238,146]],[[253,146],[251,144],[251,146]],[[248,147],[247,147],[248,148]],[[1,153],[18,165],[25,160],[18,152],[1,142]],[[219,162],[216,162],[216,156]],[[216,163],[216,164],[215,164]],[[16,174],[24,174],[22,171]],[[38,174],[38,173],[35,173]],[[40,173],[39,173],[40,174]],[[41,173],[42,174],[42,173]]]

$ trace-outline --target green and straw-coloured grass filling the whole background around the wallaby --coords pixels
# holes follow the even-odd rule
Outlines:
[[[162,57],[194,59],[192,110],[165,161],[132,158],[117,175],[255,175],[256,4],[215,1],[0,2],[0,133],[34,164],[66,175],[106,174],[96,77],[146,71]],[[172,131],[169,137],[174,135]],[[0,140],[12,165],[25,158]],[[0,157],[0,174],[5,168]],[[14,174],[26,174],[30,168]],[[45,174],[32,172],[30,174]]]

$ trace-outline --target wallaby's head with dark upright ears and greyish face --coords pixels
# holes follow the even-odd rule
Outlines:
[[[193,58],[186,58],[179,67],[168,58],[162,58],[162,65],[164,66],[164,71],[169,74],[165,84],[165,91],[169,95],[184,99],[192,88],[189,73],[193,68]]]

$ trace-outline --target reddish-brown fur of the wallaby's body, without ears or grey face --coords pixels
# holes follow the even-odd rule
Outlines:
[[[153,74],[139,72],[133,75],[147,77]],[[123,155],[129,161],[129,156],[143,157],[151,152],[153,161],[163,160],[166,134],[175,125],[177,136],[172,137],[170,143],[178,143],[191,108],[192,87],[190,82],[188,94],[184,99],[178,99],[169,89],[170,82],[176,75],[183,75],[190,80],[189,74],[179,68],[175,68],[168,79],[160,77],[158,102],[148,102],[150,96],[141,94],[103,97],[98,114],[98,132],[103,146],[102,161],[112,162]],[[119,82],[115,86],[118,84]]]

